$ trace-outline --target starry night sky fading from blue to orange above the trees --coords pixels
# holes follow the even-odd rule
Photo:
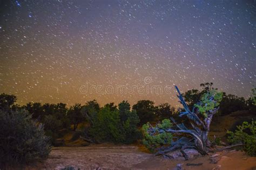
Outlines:
[[[171,94],[83,94],[80,87],[213,82],[248,97],[256,85],[254,1],[0,1],[0,93],[28,102],[101,105]]]

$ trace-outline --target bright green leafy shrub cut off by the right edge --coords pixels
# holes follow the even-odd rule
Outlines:
[[[228,142],[244,144],[243,150],[251,156],[256,156],[256,121],[243,122],[237,126],[235,132],[227,131]]]

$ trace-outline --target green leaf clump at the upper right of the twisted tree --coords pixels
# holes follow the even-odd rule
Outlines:
[[[195,108],[198,108],[201,115],[205,118],[207,117],[207,112],[217,108],[222,100],[223,93],[217,92],[216,90],[212,89],[205,93],[199,103],[194,104]]]

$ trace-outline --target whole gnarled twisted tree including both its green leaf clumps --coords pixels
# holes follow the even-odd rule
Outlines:
[[[207,134],[210,130],[212,117],[218,111],[222,93],[217,93],[210,84],[207,92],[201,97],[201,101],[190,110],[178,87],[175,86],[175,88],[177,89],[180,103],[183,105],[183,111],[179,112],[179,116],[186,116],[188,118],[186,119],[187,123],[177,123],[173,117],[170,119],[173,121],[174,127],[171,126],[168,119],[164,119],[164,122],[156,126],[147,123],[143,125],[144,144],[153,152],[158,150],[157,154],[165,154],[178,148],[184,150],[191,147],[196,148],[201,154],[207,154],[207,147],[211,143]],[[177,140],[172,141],[174,133],[177,134]]]

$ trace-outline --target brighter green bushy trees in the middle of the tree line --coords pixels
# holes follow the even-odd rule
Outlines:
[[[82,112],[90,123],[89,128],[84,129],[86,138],[91,137],[97,142],[125,144],[133,143],[140,138],[141,133],[137,129],[139,117],[136,111],[130,111],[130,104],[127,101],[121,102],[119,109],[113,103],[106,104],[99,111],[88,104],[83,106]]]

